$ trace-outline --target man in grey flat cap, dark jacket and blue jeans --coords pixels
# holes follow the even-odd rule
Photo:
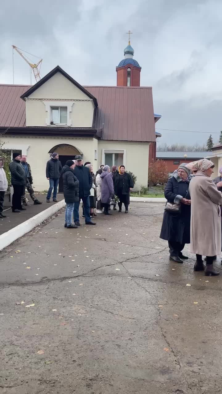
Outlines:
[[[89,214],[90,206],[89,206],[89,195],[90,189],[92,188],[92,176],[88,167],[84,167],[83,159],[80,155],[75,156],[75,170],[74,174],[79,181],[79,201],[74,203],[73,217],[75,225],[80,226],[79,223],[79,203],[80,200],[83,201],[84,206],[84,214],[85,214],[85,223],[90,225],[95,225],[91,221],[91,217]]]

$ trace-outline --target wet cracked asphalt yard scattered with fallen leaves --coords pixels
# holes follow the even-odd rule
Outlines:
[[[62,210],[0,252],[0,394],[222,392],[222,279],[188,245],[169,262],[164,204],[130,208],[79,229]]]

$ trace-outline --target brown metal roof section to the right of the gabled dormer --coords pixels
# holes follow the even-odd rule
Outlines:
[[[98,101],[102,139],[156,141],[151,87],[84,86]]]

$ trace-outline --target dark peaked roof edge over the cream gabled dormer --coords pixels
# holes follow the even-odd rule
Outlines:
[[[60,74],[62,74],[65,78],[67,78],[73,85],[75,85],[79,90],[81,90],[83,93],[85,93],[85,95],[87,95],[90,99],[92,99],[95,107],[98,106],[96,97],[91,95],[86,89],[84,89],[84,87],[82,85],[78,84],[78,82],[76,82],[69,74],[67,74],[67,72],[65,72],[63,69],[61,69],[60,66],[56,66],[55,69],[53,69],[52,71],[48,72],[48,74],[43,76],[43,78],[41,78],[39,82],[37,82],[35,85],[31,86],[30,89],[28,89],[25,93],[23,93],[21,95],[21,99],[24,100],[25,97],[28,97],[29,95],[31,95],[41,85],[45,84],[45,82],[47,82],[50,78],[52,78],[52,76],[55,75],[56,72],[60,72]]]

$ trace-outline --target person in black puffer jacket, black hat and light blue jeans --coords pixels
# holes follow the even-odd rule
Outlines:
[[[74,175],[75,163],[67,160],[62,168],[63,194],[66,202],[65,225],[68,229],[77,229],[78,226],[71,224],[74,203],[79,201],[79,181]]]

